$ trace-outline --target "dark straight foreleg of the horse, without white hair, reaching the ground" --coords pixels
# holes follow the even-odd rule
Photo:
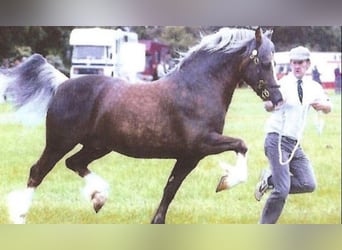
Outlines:
[[[186,176],[196,167],[199,160],[178,159],[164,188],[162,200],[151,223],[164,224],[168,207]]]

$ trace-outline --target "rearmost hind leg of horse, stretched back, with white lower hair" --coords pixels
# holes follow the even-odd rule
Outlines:
[[[10,220],[13,223],[25,223],[26,215],[30,209],[35,188],[39,186],[44,177],[69,151],[69,149],[71,150],[71,148],[56,150],[46,147],[40,159],[30,169],[27,189],[22,191],[13,191],[8,195],[9,215]]]

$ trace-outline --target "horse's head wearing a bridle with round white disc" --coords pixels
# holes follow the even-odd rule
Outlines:
[[[240,65],[240,72],[243,80],[262,100],[269,100],[276,106],[283,99],[273,71],[274,45],[271,35],[271,31],[263,34],[261,28],[255,31],[255,39],[250,41],[244,53],[246,57]]]

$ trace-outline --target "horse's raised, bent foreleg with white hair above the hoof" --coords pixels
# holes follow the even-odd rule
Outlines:
[[[237,161],[235,166],[220,163],[225,173],[221,177],[216,192],[230,189],[247,180],[247,146],[243,140],[220,134],[211,134],[204,144],[206,153],[217,154],[225,151],[235,151]]]

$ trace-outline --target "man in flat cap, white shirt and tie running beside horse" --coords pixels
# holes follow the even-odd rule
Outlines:
[[[313,168],[299,142],[303,135],[309,107],[329,113],[332,103],[322,86],[305,77],[310,67],[310,51],[302,46],[290,51],[291,72],[279,80],[284,104],[274,108],[265,102],[271,112],[266,122],[265,155],[270,170],[263,170],[255,189],[255,198],[260,201],[271,190],[262,215],[261,224],[276,223],[284,208],[288,194],[313,192],[316,179]]]

